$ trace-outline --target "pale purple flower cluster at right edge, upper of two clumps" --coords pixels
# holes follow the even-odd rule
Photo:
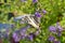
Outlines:
[[[52,32],[52,33],[57,33],[57,35],[61,35],[60,33],[62,32],[63,28],[60,26],[58,23],[56,23],[56,26],[50,26],[49,27],[49,30]]]

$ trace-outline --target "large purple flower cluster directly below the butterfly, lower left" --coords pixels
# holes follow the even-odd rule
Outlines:
[[[30,26],[26,26],[20,30],[16,30],[13,32],[12,38],[14,39],[15,42],[20,42],[20,40],[23,40],[25,38],[28,38],[30,41],[34,40],[34,37],[39,34],[39,30],[37,30],[35,33],[29,32],[29,34],[26,34],[26,30],[29,28]]]

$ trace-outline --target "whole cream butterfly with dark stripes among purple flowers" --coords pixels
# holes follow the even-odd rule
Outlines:
[[[29,24],[35,28],[39,28],[40,18],[34,14],[24,14],[22,16],[14,17],[14,22],[21,20],[23,24]]]

